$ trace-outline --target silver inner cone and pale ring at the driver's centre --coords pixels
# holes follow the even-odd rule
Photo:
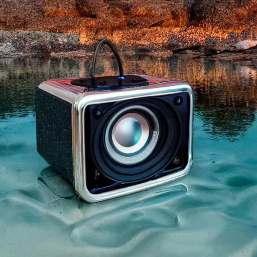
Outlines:
[[[134,165],[143,162],[153,152],[158,135],[156,115],[147,107],[133,105],[118,111],[110,119],[105,132],[105,146],[114,161]]]

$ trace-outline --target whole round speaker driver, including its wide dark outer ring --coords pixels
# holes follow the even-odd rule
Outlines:
[[[95,166],[113,181],[149,180],[173,161],[180,139],[181,120],[167,102],[149,98],[117,103],[96,127]]]

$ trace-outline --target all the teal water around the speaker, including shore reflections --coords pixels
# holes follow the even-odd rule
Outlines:
[[[124,56],[126,73],[188,80],[194,165],[159,188],[88,204],[36,151],[35,87],[90,58],[0,59],[1,256],[257,256],[254,59]],[[99,58],[98,73],[115,60]]]

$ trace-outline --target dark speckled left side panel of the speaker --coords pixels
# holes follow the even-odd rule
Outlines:
[[[73,183],[71,108],[71,103],[36,88],[38,153]]]

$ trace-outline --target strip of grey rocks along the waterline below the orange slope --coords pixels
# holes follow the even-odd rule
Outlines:
[[[118,45],[121,52],[132,54],[194,53],[201,56],[235,56],[257,54],[257,41],[232,34],[226,40],[207,37],[204,44],[190,44],[185,38],[171,37],[167,45]],[[95,40],[97,42],[97,40]],[[0,57],[24,55],[51,55],[55,57],[79,57],[92,53],[94,44],[80,43],[78,34],[50,33],[42,31],[0,30]]]

